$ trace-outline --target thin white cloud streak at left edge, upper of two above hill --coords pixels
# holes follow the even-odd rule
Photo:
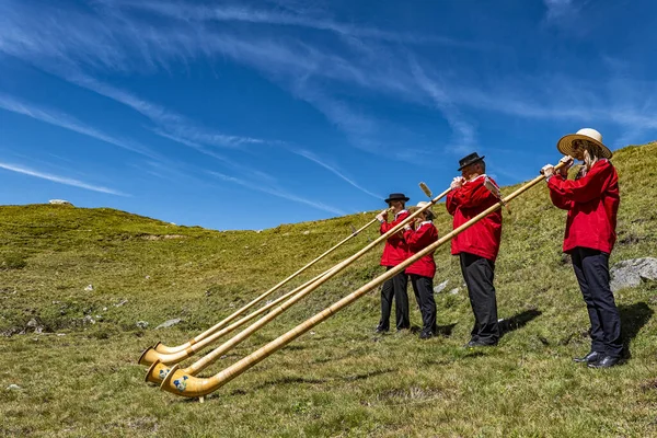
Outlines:
[[[151,158],[157,158],[157,154],[153,151],[149,150],[146,146],[139,145],[134,141],[113,137],[99,129],[92,128],[81,123],[80,120],[76,119],[74,117],[68,114],[57,112],[55,110],[39,107],[37,105],[23,102],[3,93],[0,93],[0,108],[15,114],[24,115],[39,122],[44,122],[53,126],[58,126],[60,128],[71,130],[73,132],[82,134],[84,136],[104,141],[110,145],[117,146],[131,152],[140,153]]]

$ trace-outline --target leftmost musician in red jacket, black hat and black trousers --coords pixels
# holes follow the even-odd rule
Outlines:
[[[392,193],[385,199],[389,207],[392,209],[394,219],[388,222],[388,210],[381,211],[377,219],[381,222],[380,232],[385,234],[392,230],[404,219],[408,217],[405,206],[408,198],[403,193]],[[391,235],[385,241],[383,255],[381,256],[381,266],[388,269],[399,265],[408,258],[408,247],[404,241],[403,231],[399,231]],[[404,272],[399,273],[394,277],[388,279],[381,288],[381,321],[377,326],[377,333],[388,332],[390,330],[390,311],[392,309],[392,298],[394,297],[396,330],[411,328],[411,320],[408,318],[408,277]]]

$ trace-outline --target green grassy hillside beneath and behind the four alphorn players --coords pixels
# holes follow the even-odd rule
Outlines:
[[[657,256],[657,143],[625,148],[613,162],[622,203],[612,264]],[[141,350],[158,341],[187,341],[372,212],[218,232],[112,209],[0,207],[0,435],[657,436],[657,286],[616,293],[631,351],[624,366],[576,366],[570,358],[588,350],[588,319],[561,254],[565,212],[551,206],[544,184],[510,208],[496,268],[506,332],[497,348],[461,347],[472,313],[458,261],[443,246],[436,254],[435,284],[460,288],[436,296],[443,336],[420,342],[416,334],[374,335],[373,291],[199,404],[143,383],[145,368],[136,364]],[[436,211],[445,233],[450,218],[442,206]],[[372,227],[285,290],[377,235]],[[381,274],[380,251],[205,376]],[[183,322],[154,330],[173,318]],[[140,321],[148,326],[137,326]],[[43,333],[33,333],[28,325],[35,323]],[[416,309],[412,323],[420,323]],[[5,389],[10,384],[20,389]]]

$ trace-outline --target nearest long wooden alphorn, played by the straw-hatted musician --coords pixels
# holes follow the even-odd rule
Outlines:
[[[563,165],[564,165],[564,163],[560,162],[555,166],[555,170],[561,169]],[[531,182],[527,183],[522,187],[518,188],[516,192],[514,192],[510,195],[508,195],[507,197],[505,197],[503,199],[504,203],[508,203],[508,201],[515,199],[516,197],[520,196],[521,194],[523,194],[525,192],[527,192],[534,185],[539,184],[541,181],[543,181],[543,176],[537,176]],[[269,342],[267,345],[261,347],[260,349],[257,349],[254,353],[252,353],[251,355],[242,358],[241,360],[237,361],[235,364],[231,365],[230,367],[226,368],[224,370],[218,372],[217,374],[209,377],[209,378],[197,378],[197,377],[194,377],[194,376],[191,376],[191,374],[184,372],[184,370],[178,369],[178,366],[176,365],[171,369],[171,372],[168,373],[164,381],[162,381],[160,389],[163,391],[168,391],[173,394],[186,396],[186,397],[203,397],[203,396],[218,390],[219,388],[221,388],[222,385],[224,385],[232,379],[240,376],[242,372],[246,371],[251,367],[255,366],[260,361],[267,358],[273,353],[285,347],[290,342],[295,341],[297,337],[299,337],[302,334],[304,334],[306,332],[310,331],[315,325],[327,320],[334,313],[336,313],[336,312],[341,311],[342,309],[344,309],[345,307],[351,304],[354,301],[361,298],[362,296],[365,296],[367,292],[369,292],[377,286],[383,284],[385,280],[388,280],[388,279],[392,278],[393,276],[395,276],[396,274],[401,273],[411,264],[417,262],[419,258],[424,257],[427,254],[430,254],[433,251],[435,251],[439,246],[449,242],[456,235],[463,232],[468,228],[472,227],[474,223],[476,223],[481,219],[485,218],[486,216],[488,216],[489,214],[492,214],[494,211],[497,211],[498,209],[502,208],[502,206],[503,206],[503,203],[497,203],[497,204],[491,206],[486,210],[482,211],[481,214],[479,214],[474,218],[470,219],[468,222],[463,223],[462,226],[456,228],[453,231],[446,234],[445,237],[442,237],[438,241],[434,242],[429,246],[425,247],[420,252],[416,253],[412,257],[407,258],[403,263],[399,264],[397,266],[393,267],[390,270],[387,270],[383,275],[380,275],[379,277],[369,281],[367,285],[360,287],[359,289],[357,289],[356,291],[351,292],[350,295],[344,297],[343,299],[335,302],[331,307],[324,309],[322,312],[308,319],[307,321],[297,325],[295,328],[290,330],[286,334]]]

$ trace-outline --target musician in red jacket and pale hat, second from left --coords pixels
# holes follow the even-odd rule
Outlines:
[[[420,201],[417,207],[411,207],[408,212],[414,214],[427,204]],[[410,257],[438,240],[438,230],[433,220],[434,211],[429,208],[415,217],[414,228],[410,224],[404,227],[404,240],[408,245]],[[411,277],[411,285],[413,285],[413,291],[415,292],[415,300],[422,313],[420,339],[428,339],[436,335],[436,301],[434,300],[436,262],[434,261],[434,252],[406,268],[406,274]]]

